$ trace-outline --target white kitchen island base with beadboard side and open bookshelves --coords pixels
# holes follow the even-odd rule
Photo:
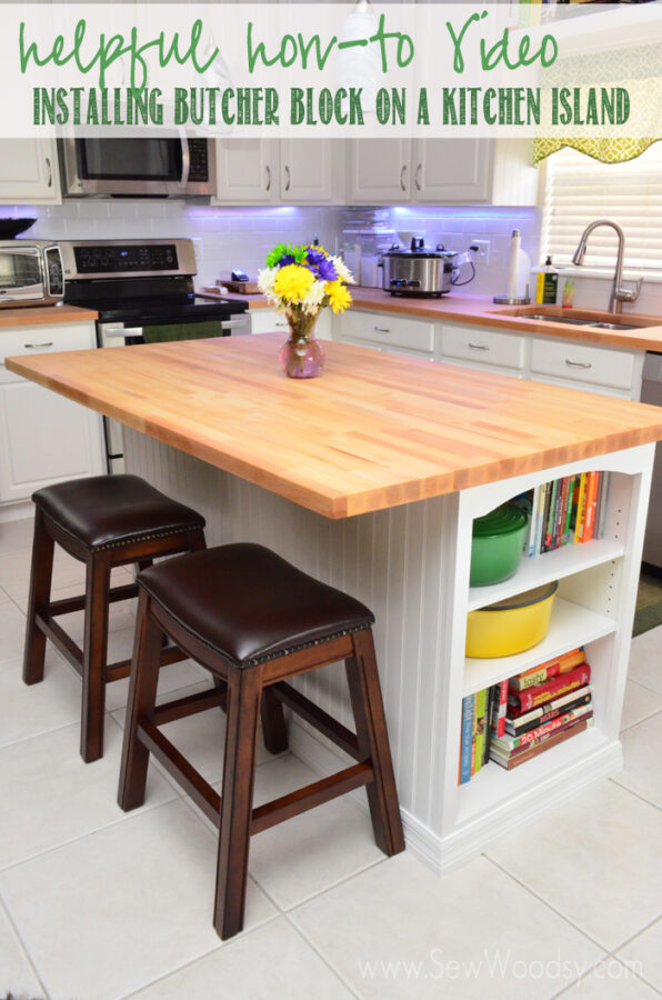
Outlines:
[[[654,444],[329,520],[133,430],[124,433],[127,470],[201,511],[210,546],[269,546],[373,610],[407,843],[430,867],[440,871],[465,861],[499,834],[620,770],[619,723]],[[613,473],[603,538],[523,559],[503,583],[469,587],[473,518],[536,483],[590,470]],[[501,659],[464,657],[469,610],[550,580],[559,580],[559,592],[539,646]],[[580,644],[592,668],[593,728],[514,771],[490,763],[460,787],[462,698]],[[299,679],[298,687],[351,727],[339,666]],[[290,743],[321,773],[344,759],[299,718],[292,719]],[[367,809],[364,793],[352,796]]]

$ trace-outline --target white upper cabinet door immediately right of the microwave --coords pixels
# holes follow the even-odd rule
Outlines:
[[[215,204],[278,201],[278,144],[271,139],[217,140]]]

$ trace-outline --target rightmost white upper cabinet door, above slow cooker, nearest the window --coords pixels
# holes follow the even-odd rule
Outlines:
[[[490,201],[492,140],[417,139],[413,146],[413,201],[434,204]]]

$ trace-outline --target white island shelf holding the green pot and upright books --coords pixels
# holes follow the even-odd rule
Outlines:
[[[535,558],[524,556],[516,573],[510,580],[492,583],[489,587],[470,587],[467,610],[474,611],[477,608],[485,608],[488,604],[512,597],[513,593],[523,593],[525,590],[532,590],[551,580],[561,580],[563,577],[579,573],[592,566],[610,562],[612,559],[621,557],[624,551],[625,547],[621,539],[600,538],[592,539],[590,542],[563,546],[561,549],[543,552]]]

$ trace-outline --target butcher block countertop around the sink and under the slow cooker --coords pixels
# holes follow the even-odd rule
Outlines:
[[[599,322],[613,322],[611,312],[601,309],[563,309],[561,306],[530,306],[514,308],[495,306],[485,296],[468,296],[451,292],[440,299],[415,299],[405,296],[389,296],[379,288],[352,288],[352,309],[384,312],[391,316],[407,316],[414,319],[447,320],[455,323],[472,323],[477,327],[492,327],[501,330],[519,330],[522,333],[542,333],[545,337],[562,337],[584,343],[602,343],[605,347],[625,347],[641,351],[662,351],[662,317],[623,312],[624,323],[641,323],[640,330],[602,330],[599,327],[575,327],[565,323],[532,320],[528,314],[575,316]],[[263,296],[235,296],[227,299],[243,299],[249,310],[272,309]],[[619,317],[616,317],[619,319]]]

